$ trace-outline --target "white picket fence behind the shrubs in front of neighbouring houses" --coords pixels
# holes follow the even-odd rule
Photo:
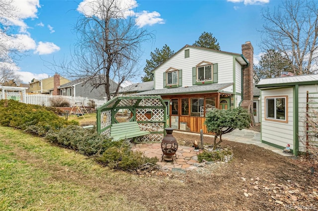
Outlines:
[[[71,96],[62,96],[62,95],[45,95],[45,94],[34,94],[26,95],[25,102],[26,104],[40,105],[40,106],[52,106],[50,99],[54,100],[66,100],[70,103],[70,106],[75,106],[76,103],[81,103],[82,106],[91,106],[91,102],[95,102],[95,108],[104,105],[107,100],[96,100],[83,97],[71,97]]]

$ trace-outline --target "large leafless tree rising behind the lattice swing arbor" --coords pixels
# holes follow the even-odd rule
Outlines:
[[[131,7],[119,3],[95,0],[81,5],[89,13],[81,15],[75,26],[78,42],[72,59],[55,66],[66,77],[87,79],[93,88],[103,86],[108,100],[117,95],[125,80],[140,75],[141,44],[152,38],[151,33],[137,27],[128,13]],[[118,83],[116,90],[110,90],[112,81]]]

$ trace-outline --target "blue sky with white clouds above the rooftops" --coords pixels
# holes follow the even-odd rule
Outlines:
[[[79,4],[90,0],[14,0],[16,18],[11,20],[14,34],[23,43],[25,56],[14,67],[24,83],[33,78],[53,76],[48,67],[53,59],[70,57],[76,34],[73,27],[80,15]],[[126,0],[127,1],[127,0]],[[262,9],[273,9],[280,0],[130,0],[137,24],[153,31],[155,39],[144,43],[140,60],[141,75],[146,59],[165,44],[177,52],[192,45],[203,32],[212,33],[221,51],[241,53],[241,45],[250,41],[254,63],[261,54]],[[141,75],[131,79],[140,82]]]

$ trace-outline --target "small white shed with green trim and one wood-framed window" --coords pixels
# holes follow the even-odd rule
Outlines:
[[[261,79],[256,85],[261,90],[261,142],[280,149],[289,144],[294,155],[305,152],[307,92],[317,105],[317,86],[318,75]]]

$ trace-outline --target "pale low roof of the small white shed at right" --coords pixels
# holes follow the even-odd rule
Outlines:
[[[306,84],[318,84],[318,75],[298,75],[287,76],[279,78],[264,78],[261,79],[256,87],[279,87],[279,86],[292,86],[292,85],[306,85]]]

